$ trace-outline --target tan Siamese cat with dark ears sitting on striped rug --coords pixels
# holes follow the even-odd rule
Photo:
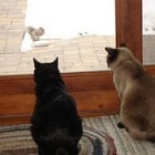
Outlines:
[[[105,50],[121,102],[118,127],[125,127],[133,138],[155,142],[155,78],[124,44]]]

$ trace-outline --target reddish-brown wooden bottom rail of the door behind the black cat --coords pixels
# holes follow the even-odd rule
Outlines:
[[[62,74],[82,117],[115,114],[117,95],[111,72]],[[33,75],[0,78],[0,125],[30,123],[34,107]]]

